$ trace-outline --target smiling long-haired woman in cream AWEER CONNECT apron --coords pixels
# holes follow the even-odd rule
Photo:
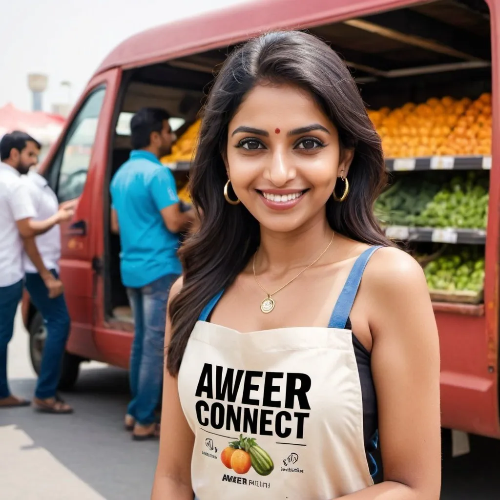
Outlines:
[[[203,218],[170,293],[153,500],[436,500],[436,326],[373,216],[380,138],[344,62],[298,31],[236,49],[190,182]]]

